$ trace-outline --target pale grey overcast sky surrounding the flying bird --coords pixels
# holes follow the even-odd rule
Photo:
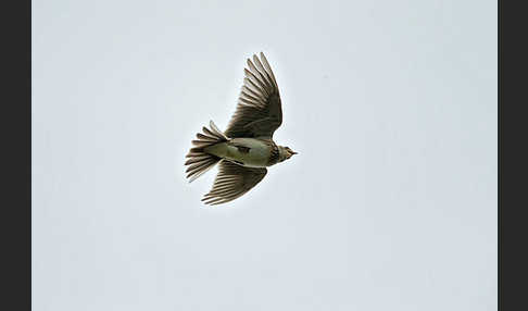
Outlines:
[[[496,310],[496,1],[33,1],[33,307]],[[299,154],[185,154],[264,51]]]

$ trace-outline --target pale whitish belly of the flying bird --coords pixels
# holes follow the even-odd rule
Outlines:
[[[232,138],[204,149],[205,152],[249,167],[265,167],[272,147],[254,138]]]

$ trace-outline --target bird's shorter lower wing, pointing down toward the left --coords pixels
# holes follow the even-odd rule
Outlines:
[[[205,204],[215,206],[235,200],[259,184],[267,173],[264,167],[246,167],[227,160],[222,160],[218,167],[213,188],[202,199]]]

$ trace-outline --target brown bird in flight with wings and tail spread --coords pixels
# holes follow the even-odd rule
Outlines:
[[[267,167],[298,152],[279,146],[273,134],[282,124],[282,105],[275,75],[263,52],[247,59],[243,85],[225,132],[211,120],[192,140],[186,156],[189,183],[218,164],[218,173],[203,203],[232,201],[259,184]]]

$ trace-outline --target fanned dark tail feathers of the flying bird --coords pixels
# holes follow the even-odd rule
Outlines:
[[[189,158],[185,162],[185,165],[189,165],[186,171],[188,173],[187,178],[190,177],[189,183],[203,175],[222,160],[216,156],[203,151],[205,147],[228,140],[227,136],[216,127],[213,121],[209,123],[209,126],[211,128],[204,126],[202,128],[203,133],[197,134],[198,140],[192,140],[194,147],[186,156],[186,158]]]

